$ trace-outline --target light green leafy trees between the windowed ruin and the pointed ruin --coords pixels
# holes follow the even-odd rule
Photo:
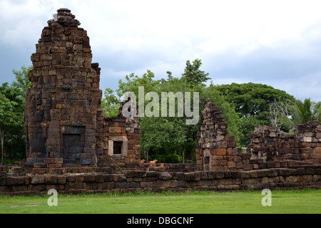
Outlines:
[[[136,76],[134,73],[126,76],[126,81],[119,81],[117,94],[121,97],[126,92],[136,94],[137,110],[138,104],[138,86],[143,86],[144,95],[149,92],[158,94],[159,107],[161,107],[162,92],[198,92],[200,95],[199,111],[203,109],[206,98],[210,98],[223,110],[225,120],[228,121],[229,133],[237,135],[238,114],[235,113],[234,107],[226,102],[223,95],[220,94],[215,86],[211,85],[206,88],[205,82],[208,80],[208,73],[200,70],[201,61],[196,59],[193,63],[186,62],[184,73],[180,77],[175,77],[170,71],[167,71],[167,78],[156,80],[154,73],[147,71],[143,76]],[[146,105],[151,101],[145,100]],[[193,97],[191,98],[193,107]],[[167,105],[169,99],[167,100]],[[187,118],[185,115],[178,116],[178,100],[175,100],[174,117],[142,117],[141,118],[141,149],[148,151],[152,159],[159,162],[184,162],[185,159],[190,161],[195,159],[195,146],[197,143],[198,125],[186,125]],[[169,110],[167,110],[169,114]],[[185,159],[184,159],[185,158]]]

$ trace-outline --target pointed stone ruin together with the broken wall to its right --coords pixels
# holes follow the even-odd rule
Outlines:
[[[245,152],[228,135],[228,124],[212,100],[206,100],[200,116],[196,148],[197,170],[260,170],[298,165],[321,165],[321,123],[296,125],[294,135],[279,128],[257,126]]]

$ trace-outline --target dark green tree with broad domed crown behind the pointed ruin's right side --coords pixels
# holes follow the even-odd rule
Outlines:
[[[270,125],[270,105],[275,103],[275,100],[285,103],[295,100],[285,91],[258,83],[232,83],[215,88],[235,107],[235,112],[240,117],[235,124],[239,129],[236,134],[242,147],[247,147],[250,133],[253,133],[256,125]]]

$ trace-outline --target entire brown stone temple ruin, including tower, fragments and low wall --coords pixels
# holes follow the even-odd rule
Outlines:
[[[98,63],[87,32],[58,9],[41,33],[29,72],[26,160],[0,166],[1,195],[148,190],[263,190],[321,187],[321,123],[285,135],[258,126],[245,152],[211,100],[200,115],[196,167],[141,163],[138,117],[104,118]]]

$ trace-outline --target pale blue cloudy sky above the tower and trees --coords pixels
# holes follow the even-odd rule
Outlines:
[[[147,69],[180,76],[200,58],[215,84],[263,83],[321,100],[320,0],[0,0],[0,83],[31,65],[42,29],[62,7],[88,31],[102,90]]]

